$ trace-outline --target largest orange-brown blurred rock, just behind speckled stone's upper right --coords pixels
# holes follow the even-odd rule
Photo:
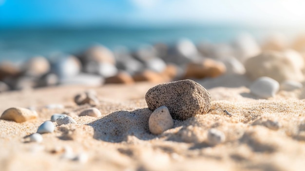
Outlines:
[[[187,66],[184,78],[217,77],[226,72],[226,66],[222,62],[213,59],[204,59],[201,62],[190,62]]]

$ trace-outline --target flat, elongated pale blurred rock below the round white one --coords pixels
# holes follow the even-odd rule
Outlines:
[[[100,86],[103,85],[104,78],[102,76],[81,73],[73,77],[60,79],[59,83],[61,85]]]

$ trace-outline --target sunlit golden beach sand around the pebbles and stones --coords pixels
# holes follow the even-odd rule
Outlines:
[[[16,123],[0,120],[1,171],[304,171],[305,100],[302,90],[280,91],[258,99],[244,76],[196,80],[211,94],[211,110],[160,135],[148,129],[152,111],[145,94],[157,83],[58,86],[0,94],[0,112],[10,107],[36,108],[38,118]],[[239,86],[243,85],[243,86]],[[77,106],[74,96],[93,89],[101,117],[78,116],[90,105]],[[48,109],[62,104],[63,109]],[[231,116],[226,112],[227,110]],[[77,124],[57,126],[41,143],[27,135],[65,113]],[[271,124],[270,124],[271,123]],[[210,128],[225,142],[211,146]],[[78,157],[77,157],[78,156]]]

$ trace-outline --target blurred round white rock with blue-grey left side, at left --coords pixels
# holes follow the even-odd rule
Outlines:
[[[80,61],[74,56],[62,55],[52,63],[52,72],[60,79],[76,76],[80,70]]]

